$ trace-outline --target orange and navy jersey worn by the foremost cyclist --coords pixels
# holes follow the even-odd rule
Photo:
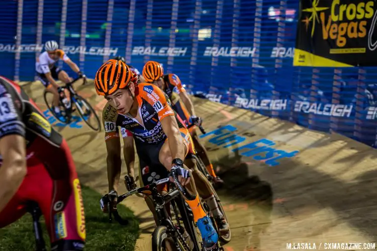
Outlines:
[[[166,116],[175,116],[176,118],[176,113],[170,107],[164,93],[152,84],[138,84],[135,89],[135,98],[142,124],[135,118],[123,114],[108,115],[106,120],[103,117],[107,139],[119,137],[117,128],[121,127],[123,137],[125,137],[124,134],[131,132],[136,144],[159,144],[166,139],[166,135],[162,131],[161,119]],[[104,111],[114,113],[114,108],[109,109],[109,105],[107,105]],[[177,118],[176,120],[178,127],[184,128]]]

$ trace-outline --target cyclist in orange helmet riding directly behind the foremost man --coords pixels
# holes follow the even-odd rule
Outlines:
[[[201,126],[202,118],[196,116],[194,105],[177,75],[164,75],[164,70],[160,63],[148,61],[143,68],[143,77],[147,83],[157,85],[161,90],[166,92],[167,96],[171,100],[173,109],[182,118],[186,126],[188,126],[189,123],[194,123],[196,126]],[[206,165],[210,175],[214,177],[215,185],[217,187],[221,186],[224,181],[216,175],[212,163],[208,157],[206,148],[199,141],[195,127],[190,128],[189,132],[193,138],[195,149],[197,150],[199,157]]]

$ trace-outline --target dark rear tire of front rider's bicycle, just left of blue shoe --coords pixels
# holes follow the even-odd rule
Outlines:
[[[187,208],[189,205],[186,204],[181,196],[179,196],[175,202],[182,218],[184,228],[186,229],[187,233],[189,233],[191,240],[194,242],[193,251],[202,251],[202,244],[201,241],[198,240],[196,223],[194,222],[193,214],[189,215],[187,212],[188,210],[191,211],[191,209]]]

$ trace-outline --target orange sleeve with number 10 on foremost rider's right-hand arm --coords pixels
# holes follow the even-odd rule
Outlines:
[[[153,106],[160,121],[166,116],[174,115],[174,111],[171,109],[160,88],[152,84],[139,84],[139,88],[142,97]]]

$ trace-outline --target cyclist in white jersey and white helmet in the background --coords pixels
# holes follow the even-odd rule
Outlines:
[[[54,94],[54,111],[57,116],[60,115],[59,108],[59,85],[56,80],[60,80],[63,83],[69,83],[72,78],[68,74],[56,66],[56,62],[62,59],[69,67],[78,74],[79,77],[85,77],[80,71],[78,66],[72,62],[64,51],[59,49],[59,45],[56,41],[47,41],[45,44],[45,52],[42,52],[35,63],[35,70],[42,84],[48,88],[48,91]]]

